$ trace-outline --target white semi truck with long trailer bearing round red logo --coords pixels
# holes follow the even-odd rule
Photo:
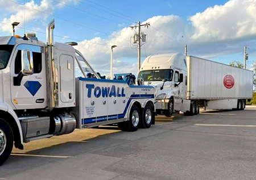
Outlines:
[[[182,53],[147,57],[138,82],[155,86],[157,114],[199,114],[199,108],[243,110],[253,97],[253,72]]]

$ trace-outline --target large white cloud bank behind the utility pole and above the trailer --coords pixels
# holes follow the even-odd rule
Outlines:
[[[148,35],[148,42],[145,44],[147,55],[184,52],[184,44],[188,44],[189,55],[206,58],[242,52],[245,44],[250,44],[251,47],[256,45],[255,12],[256,0],[231,0],[225,5],[209,7],[187,20],[175,15],[154,16],[145,21],[150,22],[151,27],[142,28]],[[119,48],[114,49],[116,60],[134,60],[115,70],[125,72],[124,68],[127,67],[129,72],[131,67],[136,66],[137,49],[121,47],[130,47],[129,40],[133,34],[134,30],[126,27],[113,32],[108,39],[96,37],[89,42],[117,45]],[[96,69],[109,73],[110,47],[83,41],[78,48]],[[136,72],[136,68],[134,70]]]

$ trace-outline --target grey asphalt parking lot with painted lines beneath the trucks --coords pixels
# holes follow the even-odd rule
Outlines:
[[[256,179],[256,106],[77,130],[13,150],[0,179]]]

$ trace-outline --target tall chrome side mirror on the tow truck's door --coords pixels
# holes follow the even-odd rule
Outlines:
[[[33,54],[30,50],[22,50],[22,74],[24,76],[34,73]]]

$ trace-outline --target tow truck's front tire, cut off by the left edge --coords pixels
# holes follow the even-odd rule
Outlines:
[[[0,165],[9,158],[13,150],[13,131],[10,125],[0,118]]]

